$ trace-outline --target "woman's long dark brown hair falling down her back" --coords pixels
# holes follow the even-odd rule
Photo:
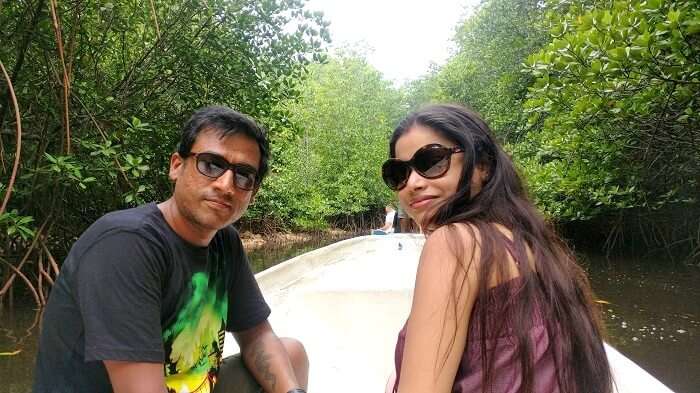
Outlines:
[[[507,329],[516,337],[516,356],[522,371],[520,392],[533,392],[535,386],[529,331],[536,313],[541,314],[547,327],[560,391],[611,392],[613,382],[603,347],[603,327],[586,274],[528,199],[513,162],[495,142],[488,125],[460,106],[428,106],[398,125],[390,140],[391,157],[396,157],[398,139],[415,125],[429,127],[464,148],[457,192],[420,224],[427,233],[442,226],[454,229],[453,224],[457,223],[467,223],[470,224],[468,228],[478,230],[479,294],[472,310],[478,321],[473,323],[477,324],[476,329],[488,332],[489,336],[500,336]],[[486,176],[481,191],[472,198],[470,180],[477,167],[484,170]],[[517,301],[497,304],[497,300],[487,296],[489,278],[495,274],[499,282],[505,281],[508,271],[505,243],[508,240],[493,224],[512,232],[515,254],[527,258],[529,250],[534,260],[534,269],[527,259],[518,264],[522,287],[518,289]],[[450,233],[455,234],[453,238],[458,242],[458,232]],[[456,249],[459,250],[459,246]],[[471,262],[462,261],[462,267],[468,269]],[[456,278],[452,283],[455,300],[464,284]],[[507,318],[500,318],[503,323],[487,320],[487,310],[493,312],[494,309],[499,315],[507,315]],[[451,342],[454,343],[454,338]],[[495,354],[487,349],[485,340],[481,341],[480,354],[483,386],[485,391],[491,391]]]

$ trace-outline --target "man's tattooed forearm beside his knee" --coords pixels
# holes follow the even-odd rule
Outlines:
[[[274,333],[258,337],[242,355],[246,366],[266,392],[286,393],[300,386],[289,355]]]

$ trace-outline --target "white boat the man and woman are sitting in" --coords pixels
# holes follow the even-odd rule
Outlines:
[[[306,347],[309,392],[383,392],[411,308],[422,235],[363,236],[256,275],[279,336]],[[224,355],[238,352],[227,334]],[[606,344],[618,393],[672,392]]]

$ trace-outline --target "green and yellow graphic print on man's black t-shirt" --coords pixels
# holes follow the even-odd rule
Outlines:
[[[214,389],[228,309],[224,288],[222,282],[210,282],[206,273],[192,276],[189,301],[163,331],[168,392],[209,393]]]

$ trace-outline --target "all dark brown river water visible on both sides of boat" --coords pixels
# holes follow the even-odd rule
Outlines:
[[[314,239],[249,253],[255,272],[339,238]],[[583,257],[604,304],[608,341],[678,393],[700,391],[700,269],[667,261]],[[31,389],[39,315],[33,305],[0,309],[0,391]]]

